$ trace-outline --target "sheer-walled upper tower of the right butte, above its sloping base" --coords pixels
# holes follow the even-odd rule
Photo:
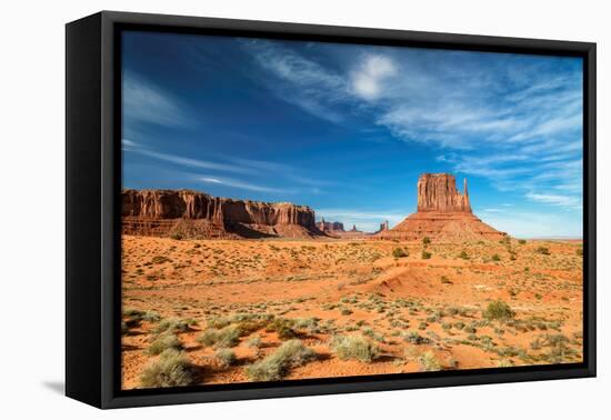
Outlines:
[[[424,173],[418,179],[418,211],[471,212],[467,179],[464,193],[457,189],[454,176],[449,173]]]

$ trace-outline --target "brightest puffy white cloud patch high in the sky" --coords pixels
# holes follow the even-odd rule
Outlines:
[[[367,56],[358,70],[352,73],[352,91],[364,100],[377,100],[383,93],[384,79],[394,74],[397,74],[397,66],[389,57]]]

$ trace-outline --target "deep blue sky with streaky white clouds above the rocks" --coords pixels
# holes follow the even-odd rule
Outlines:
[[[423,172],[517,237],[582,234],[582,62],[123,34],[123,187],[307,204],[375,230]]]

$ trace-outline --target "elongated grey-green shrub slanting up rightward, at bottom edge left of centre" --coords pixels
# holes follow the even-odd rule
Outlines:
[[[289,340],[264,359],[248,366],[244,371],[251,381],[277,381],[286,377],[291,368],[314,360],[315,352],[300,340]]]

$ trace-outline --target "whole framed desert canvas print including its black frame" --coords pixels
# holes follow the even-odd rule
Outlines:
[[[67,26],[67,394],[595,374],[595,46]]]

